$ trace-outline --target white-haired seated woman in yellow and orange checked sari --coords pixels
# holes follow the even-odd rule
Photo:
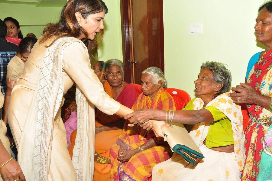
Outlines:
[[[143,93],[135,101],[133,110],[176,110],[173,97],[164,90],[167,81],[159,68],[144,70],[141,84]],[[129,127],[128,123],[125,122],[122,134],[110,150],[111,179],[147,180],[154,165],[170,158],[170,147],[155,138],[153,131],[147,132],[138,125]]]

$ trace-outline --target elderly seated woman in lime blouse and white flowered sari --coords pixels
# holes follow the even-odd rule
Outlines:
[[[244,163],[244,134],[241,107],[228,96],[231,72],[219,62],[206,62],[200,67],[195,83],[196,98],[183,110],[138,110],[125,116],[130,122],[153,129],[163,137],[164,121],[195,124],[190,131],[199,150],[205,156],[196,166],[181,155],[153,168],[155,180],[241,180]],[[156,121],[157,120],[157,121]],[[173,128],[174,129],[174,128]],[[182,138],[180,138],[182,139]]]

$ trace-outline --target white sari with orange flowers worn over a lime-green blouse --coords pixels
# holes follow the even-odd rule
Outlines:
[[[189,134],[205,158],[193,165],[174,153],[169,160],[154,166],[152,180],[241,180],[240,172],[244,163],[243,117],[241,106],[234,104],[228,94],[227,92],[217,96],[207,106],[216,107],[231,121],[235,151],[225,153],[207,148],[203,141],[206,139],[210,123],[198,123]],[[196,98],[193,110],[199,110],[203,105],[203,100]]]

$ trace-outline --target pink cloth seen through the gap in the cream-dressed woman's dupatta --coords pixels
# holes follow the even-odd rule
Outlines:
[[[73,111],[69,117],[69,119],[66,120],[64,123],[65,129],[66,129],[66,139],[68,146],[71,146],[71,134],[74,130],[76,130],[77,127],[77,114],[76,111]]]

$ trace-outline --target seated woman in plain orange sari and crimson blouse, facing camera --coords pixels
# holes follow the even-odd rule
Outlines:
[[[124,69],[120,60],[112,59],[106,61],[105,92],[122,105],[131,108],[136,100],[133,87],[123,80]],[[97,110],[95,116],[96,138],[95,138],[95,172],[94,181],[110,180],[109,151],[122,133],[125,120],[114,114],[107,115]]]

